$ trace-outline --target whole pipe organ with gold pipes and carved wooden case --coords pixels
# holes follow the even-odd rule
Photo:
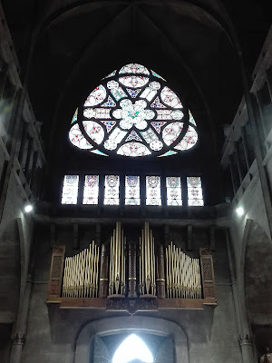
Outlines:
[[[217,305],[211,250],[200,248],[198,259],[172,242],[156,244],[149,222],[138,243],[117,222],[108,245],[92,241],[73,257],[64,255],[65,246],[53,246],[47,304],[131,314]]]

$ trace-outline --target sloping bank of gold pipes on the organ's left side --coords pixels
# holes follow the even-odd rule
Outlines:
[[[63,298],[97,298],[99,247],[92,240],[88,249],[66,257],[63,274]]]

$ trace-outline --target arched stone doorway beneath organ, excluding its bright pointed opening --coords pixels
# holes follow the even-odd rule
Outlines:
[[[178,357],[178,361],[189,363],[188,340],[178,324],[166,319],[136,316],[102,319],[87,324],[77,338],[74,363],[112,362],[116,350],[131,335],[141,338],[151,351],[154,362],[175,363]],[[141,358],[131,357],[144,362]]]

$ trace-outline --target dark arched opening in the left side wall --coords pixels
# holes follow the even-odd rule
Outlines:
[[[0,323],[14,323],[21,285],[21,243],[17,220],[9,221],[0,236]]]

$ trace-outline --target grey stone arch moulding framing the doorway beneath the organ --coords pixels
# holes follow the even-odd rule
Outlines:
[[[165,319],[138,316],[96,320],[85,325],[76,340],[74,363],[89,362],[91,341],[94,336],[119,332],[145,332],[165,337],[171,336],[176,361],[189,363],[187,336],[178,324]]]

